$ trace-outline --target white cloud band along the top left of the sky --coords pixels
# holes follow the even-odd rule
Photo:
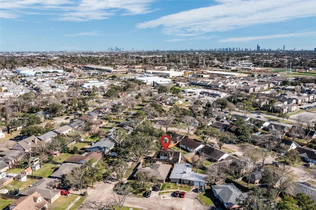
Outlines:
[[[44,14],[57,20],[101,20],[113,15],[151,12],[154,0],[1,0],[0,17]]]

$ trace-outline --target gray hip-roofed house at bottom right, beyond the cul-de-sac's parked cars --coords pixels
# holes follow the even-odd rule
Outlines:
[[[237,198],[245,195],[233,183],[212,185],[211,187],[214,196],[223,203],[226,209],[238,208]]]

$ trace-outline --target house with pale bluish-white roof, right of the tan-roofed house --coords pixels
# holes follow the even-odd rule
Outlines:
[[[170,182],[184,183],[196,186],[205,186],[207,175],[197,174],[192,171],[192,165],[188,163],[176,163],[169,176]]]

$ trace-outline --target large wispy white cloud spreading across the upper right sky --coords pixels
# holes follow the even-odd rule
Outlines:
[[[315,0],[221,0],[217,3],[139,23],[136,27],[162,27],[164,34],[188,36],[316,16]]]

